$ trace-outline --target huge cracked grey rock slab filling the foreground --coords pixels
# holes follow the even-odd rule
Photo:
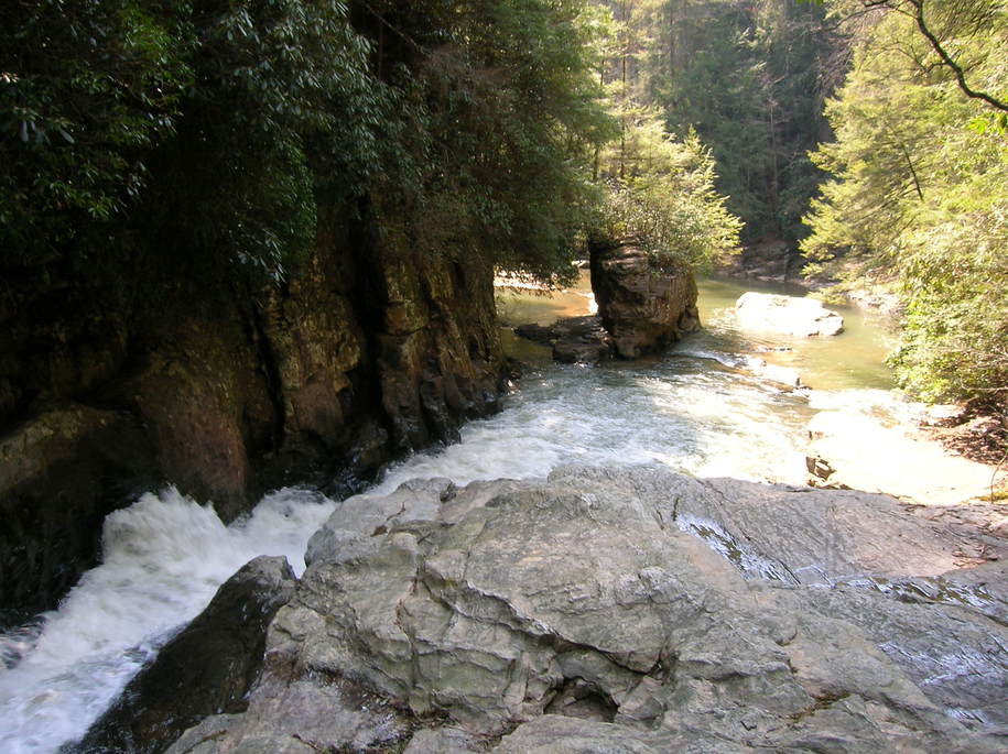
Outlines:
[[[956,569],[1005,549],[880,495],[659,467],[411,482],[333,514],[250,711],[171,751],[993,752],[1005,566]],[[305,685],[335,711],[305,696],[295,739],[277,700]]]

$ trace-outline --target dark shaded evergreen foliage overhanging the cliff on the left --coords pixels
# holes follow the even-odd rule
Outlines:
[[[597,193],[582,0],[15,0],[0,244],[280,281],[325,208],[549,277]],[[595,25],[593,25],[595,24]],[[380,230],[380,229],[379,229]]]

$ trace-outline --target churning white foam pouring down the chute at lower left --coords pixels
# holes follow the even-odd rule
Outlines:
[[[334,509],[317,493],[283,490],[225,526],[169,489],[109,515],[102,565],[45,615],[41,633],[9,640],[23,658],[0,669],[0,751],[54,752],[78,739],[248,560],[284,555],[303,571],[307,538]]]

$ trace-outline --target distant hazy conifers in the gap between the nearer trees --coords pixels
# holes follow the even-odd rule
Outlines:
[[[744,237],[803,234],[800,218],[822,174],[808,151],[826,138],[826,94],[843,40],[814,6],[793,0],[635,0],[638,99],[666,128],[695,128],[712,149],[717,188],[746,222]]]

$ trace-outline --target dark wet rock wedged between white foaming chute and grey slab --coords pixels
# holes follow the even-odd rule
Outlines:
[[[163,751],[207,714],[245,711],[265,630],[296,579],[283,557],[259,557],[228,579],[207,608],[126,687],[72,751]]]

